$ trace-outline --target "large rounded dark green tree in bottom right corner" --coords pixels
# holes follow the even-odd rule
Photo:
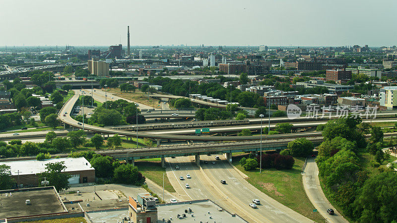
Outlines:
[[[392,222],[397,219],[397,175],[383,172],[367,179],[357,197],[358,222]]]

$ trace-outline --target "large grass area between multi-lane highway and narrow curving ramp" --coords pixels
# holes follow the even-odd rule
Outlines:
[[[315,208],[303,188],[301,169],[305,163],[304,158],[294,158],[293,169],[270,168],[263,169],[262,173],[259,173],[259,168],[245,171],[239,164],[242,157],[233,157],[233,165],[249,176],[247,179],[249,183],[299,214],[316,222],[325,222],[321,214],[313,213]]]

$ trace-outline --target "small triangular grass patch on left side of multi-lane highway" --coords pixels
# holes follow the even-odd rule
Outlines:
[[[145,177],[149,178],[160,187],[163,186],[163,173],[165,173],[165,168],[161,167],[161,161],[136,160],[134,165],[138,167],[138,170]],[[168,180],[167,175],[164,175],[164,189],[171,193],[175,192],[175,189]]]

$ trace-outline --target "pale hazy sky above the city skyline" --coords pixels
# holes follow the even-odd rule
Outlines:
[[[397,45],[397,0],[0,0],[0,46]]]

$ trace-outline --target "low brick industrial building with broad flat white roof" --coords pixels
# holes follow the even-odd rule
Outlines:
[[[0,162],[0,165],[10,167],[11,177],[14,178],[17,188],[23,188],[28,185],[38,186],[43,180],[41,173],[46,171],[46,164],[65,162],[66,169],[63,171],[71,175],[69,183],[92,183],[95,182],[95,169],[84,158],[60,158],[49,160],[24,160]]]

